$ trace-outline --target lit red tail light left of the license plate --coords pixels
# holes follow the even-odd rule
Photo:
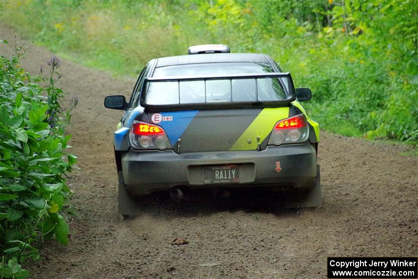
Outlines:
[[[160,126],[134,121],[129,131],[129,140],[134,149],[172,149],[164,129]]]

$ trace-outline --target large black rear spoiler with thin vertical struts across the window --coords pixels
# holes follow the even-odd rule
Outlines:
[[[151,105],[145,101],[146,89],[151,82],[181,82],[181,81],[207,81],[207,80],[230,80],[232,84],[233,79],[257,79],[259,78],[287,78],[288,87],[284,86],[283,81],[280,80],[282,87],[287,93],[288,97],[284,100],[272,101],[246,101],[246,102],[201,102],[201,103],[185,103],[185,104],[167,104],[167,105]],[[256,87],[256,94],[258,96]],[[180,94],[180,93],[179,93]],[[147,77],[141,88],[140,104],[148,111],[162,112],[162,111],[178,111],[178,110],[196,110],[196,109],[218,109],[218,108],[275,108],[287,106],[290,102],[296,99],[295,86],[293,84],[292,76],[289,72],[286,73],[255,73],[255,74],[238,74],[238,75],[212,75],[212,76],[171,76],[166,78]]]

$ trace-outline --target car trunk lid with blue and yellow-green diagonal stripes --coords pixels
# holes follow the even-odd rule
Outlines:
[[[274,124],[289,117],[289,107],[207,109],[148,113],[177,152],[256,150],[265,148]]]

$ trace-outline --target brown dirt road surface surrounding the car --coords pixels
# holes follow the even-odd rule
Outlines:
[[[13,38],[1,25],[9,41],[1,55],[11,53]],[[21,65],[37,74],[53,53],[29,51]],[[135,80],[65,60],[60,73],[60,86],[80,99],[68,128],[81,168],[69,179],[78,217],[69,219],[67,247],[52,240],[40,248],[42,259],[27,266],[33,278],[326,278],[328,256],[417,256],[417,157],[324,132],[322,208],[284,210],[257,195],[183,205],[151,199],[140,216],[123,220],[112,147],[122,113],[105,109],[103,98],[128,97]],[[170,245],[175,237],[189,244]]]

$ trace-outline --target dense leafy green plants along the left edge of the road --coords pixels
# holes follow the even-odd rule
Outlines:
[[[2,40],[0,44],[7,43]],[[51,58],[33,79],[19,66],[22,48],[0,57],[0,278],[25,279],[25,260],[38,259],[37,243],[68,244],[61,214],[70,195],[65,176],[76,163],[64,127],[77,105],[63,107],[56,87],[60,60]]]

